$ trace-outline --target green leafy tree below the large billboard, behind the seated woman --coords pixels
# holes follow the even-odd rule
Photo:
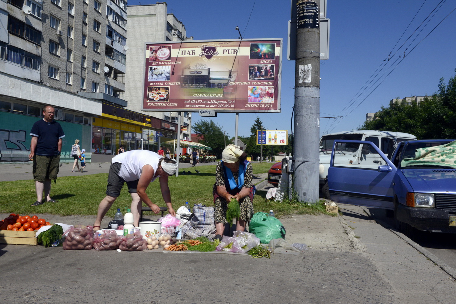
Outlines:
[[[228,144],[228,137],[223,134],[222,128],[216,124],[212,119],[201,120],[196,122],[192,129],[199,136],[204,138],[201,143],[212,148],[212,153],[217,157],[222,155],[225,148],[224,142]]]

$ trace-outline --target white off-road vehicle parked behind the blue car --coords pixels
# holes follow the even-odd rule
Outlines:
[[[326,134],[320,139],[320,191],[323,198],[329,198],[328,193],[328,168],[329,162],[332,155],[332,147],[335,140],[358,140],[358,141],[369,141],[373,142],[380,151],[388,154],[394,150],[393,146],[398,142],[406,140],[416,139],[415,135],[403,132],[387,132],[387,131],[376,131],[376,130],[355,130],[355,131],[344,131]],[[358,146],[357,146],[358,147]],[[352,167],[361,165],[359,161],[362,153],[361,147],[354,149],[350,147],[350,144],[338,147],[336,151],[337,157],[347,159],[347,162],[351,162]],[[367,156],[373,167],[378,166],[381,162],[380,157],[377,154],[371,154]],[[384,164],[384,163],[383,163]]]

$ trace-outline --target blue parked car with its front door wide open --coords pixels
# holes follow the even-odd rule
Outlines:
[[[442,156],[438,152],[425,158],[426,162],[420,157],[429,155],[431,147],[452,141],[400,142],[387,157],[373,142],[336,140],[333,151],[338,153],[332,154],[328,170],[331,199],[394,210],[394,225],[406,234],[414,233],[414,228],[456,233],[456,153]],[[361,151],[354,160],[356,166],[344,152],[343,147],[349,145]],[[373,161],[373,156],[380,161]]]

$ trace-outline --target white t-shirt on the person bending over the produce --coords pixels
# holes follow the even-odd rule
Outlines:
[[[161,156],[157,153],[147,150],[131,150],[124,153],[120,153],[113,157],[112,162],[120,162],[119,176],[122,177],[126,182],[135,181],[140,178],[142,168],[145,165],[150,165],[154,169],[155,176],[152,181],[155,181],[159,175],[156,175],[158,169],[158,161]]]

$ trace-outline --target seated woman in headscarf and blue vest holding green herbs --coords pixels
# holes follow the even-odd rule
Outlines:
[[[238,146],[228,145],[222,152],[222,160],[217,163],[212,191],[215,204],[214,239],[222,239],[231,198],[238,200],[241,209],[240,217],[236,218],[236,230],[244,231],[254,214],[253,169],[252,164],[245,160],[246,157],[247,154]],[[228,224],[231,226],[232,223]]]

